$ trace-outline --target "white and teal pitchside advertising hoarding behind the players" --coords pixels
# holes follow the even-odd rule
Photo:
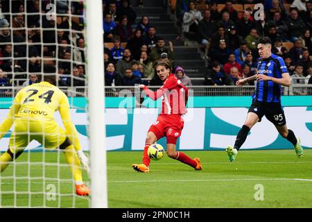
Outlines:
[[[160,102],[159,102],[160,101]],[[245,121],[250,96],[197,96],[191,98],[188,113],[184,116],[184,129],[177,148],[180,150],[218,150],[234,144],[236,134]],[[87,114],[83,98],[69,98],[71,117],[76,125],[80,142],[87,151]],[[10,99],[0,100],[0,121],[8,108]],[[282,99],[288,128],[301,138],[304,148],[312,148],[312,96],[284,96]],[[161,99],[146,99],[143,106],[136,108],[135,98],[107,97],[106,105],[106,148],[108,151],[143,150],[147,130],[156,121]],[[55,118],[62,126],[58,112]],[[10,132],[0,140],[0,150],[8,148]],[[159,141],[165,146],[166,139]],[[40,149],[33,141],[27,148]],[[282,138],[275,127],[265,117],[257,123],[246,139],[242,149],[292,148],[290,142]]]

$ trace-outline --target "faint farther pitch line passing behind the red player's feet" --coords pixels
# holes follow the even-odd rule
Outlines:
[[[289,161],[289,162],[201,162],[201,164],[312,164],[312,161]],[[132,163],[133,164],[133,163]],[[107,166],[132,165],[132,164],[107,164]],[[156,163],[157,165],[175,165],[180,162]]]

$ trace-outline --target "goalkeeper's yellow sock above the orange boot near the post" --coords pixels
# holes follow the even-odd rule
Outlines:
[[[80,169],[80,161],[78,159],[78,155],[75,151],[75,148],[73,148],[73,145],[67,146],[67,148],[64,149],[64,155],[66,158],[67,164],[69,164],[69,167],[71,169],[71,173],[73,173],[73,180],[78,182],[83,182],[83,174],[81,173]]]

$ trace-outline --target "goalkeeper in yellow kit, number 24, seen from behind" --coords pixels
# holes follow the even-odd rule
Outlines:
[[[54,112],[60,112],[65,130],[58,126]],[[44,148],[60,148],[73,173],[76,194],[89,195],[90,190],[83,184],[80,161],[89,170],[89,160],[83,153],[78,133],[71,122],[67,96],[55,86],[55,75],[44,76],[41,83],[28,85],[15,96],[8,116],[0,125],[0,139],[15,123],[10,137],[8,151],[0,156],[1,172],[24,151],[33,140]]]

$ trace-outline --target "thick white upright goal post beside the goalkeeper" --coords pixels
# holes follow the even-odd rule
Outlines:
[[[107,207],[102,0],[85,0],[91,207]]]

